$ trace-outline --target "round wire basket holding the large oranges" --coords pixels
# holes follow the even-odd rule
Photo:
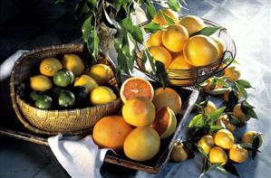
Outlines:
[[[201,83],[204,80],[207,80],[208,78],[212,77],[216,73],[218,73],[221,70],[225,70],[227,66],[234,61],[236,57],[236,45],[235,42],[232,40],[232,38],[227,33],[227,30],[223,28],[222,26],[218,25],[218,23],[213,23],[207,19],[203,19],[204,23],[207,26],[213,26],[213,27],[220,27],[220,29],[214,33],[214,35],[217,35],[220,37],[226,44],[226,51],[224,52],[223,56],[214,63],[209,64],[208,66],[204,67],[198,67],[194,69],[189,70],[167,70],[168,77],[169,77],[169,84],[174,86],[195,86],[198,83]],[[142,24],[144,25],[144,24]],[[150,38],[150,33],[144,34],[144,43],[148,41]],[[137,43],[137,57],[136,61],[139,67],[139,70],[145,73],[147,76],[150,77],[152,80],[156,80],[153,75],[150,74],[150,72],[146,69],[145,64],[140,59],[140,52],[145,48],[144,45]],[[227,59],[231,59],[226,66],[221,66],[221,64],[226,61]]]

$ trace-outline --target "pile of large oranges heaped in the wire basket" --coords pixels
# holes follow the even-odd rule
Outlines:
[[[168,25],[165,15],[172,24]],[[160,23],[163,30],[150,35],[146,47],[154,60],[164,63],[166,69],[192,69],[218,61],[225,51],[225,42],[216,35],[197,33],[206,24],[197,16],[179,14],[170,9],[160,9],[152,22]]]

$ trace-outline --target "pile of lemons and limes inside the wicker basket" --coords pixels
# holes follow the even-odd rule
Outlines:
[[[64,54],[63,60],[46,58],[39,74],[30,78],[30,98],[37,108],[71,108],[78,104],[102,105],[117,97],[105,87],[113,77],[110,67],[94,64],[90,69],[76,54]]]

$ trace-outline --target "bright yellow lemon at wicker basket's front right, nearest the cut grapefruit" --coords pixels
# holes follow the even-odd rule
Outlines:
[[[113,91],[104,86],[97,87],[92,89],[90,93],[90,100],[92,105],[103,105],[115,100],[117,97]]]

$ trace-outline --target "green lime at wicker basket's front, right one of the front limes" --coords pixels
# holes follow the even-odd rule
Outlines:
[[[72,107],[75,103],[75,97],[69,90],[63,89],[58,96],[58,104],[61,107]]]

